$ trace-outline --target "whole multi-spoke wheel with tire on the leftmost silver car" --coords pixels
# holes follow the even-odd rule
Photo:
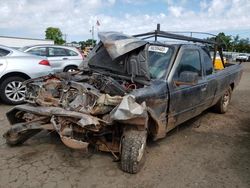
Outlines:
[[[22,77],[6,78],[0,85],[0,97],[7,104],[21,104],[25,99],[26,87]]]

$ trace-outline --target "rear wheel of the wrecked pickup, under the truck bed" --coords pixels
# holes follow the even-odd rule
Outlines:
[[[214,105],[214,110],[217,113],[224,114],[228,110],[228,106],[231,101],[232,89],[229,87],[219,99],[219,101]]]

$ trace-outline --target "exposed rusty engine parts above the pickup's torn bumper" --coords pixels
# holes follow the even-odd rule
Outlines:
[[[60,106],[66,109],[73,107],[70,109],[75,110],[74,101],[79,100],[78,95],[83,95],[82,100],[85,98],[85,102],[81,101],[83,106],[93,106],[102,94],[124,96],[142,87],[140,84],[114,79],[99,73],[89,76],[78,74],[65,79],[67,76],[69,75],[56,74],[28,82],[26,101],[41,106]]]

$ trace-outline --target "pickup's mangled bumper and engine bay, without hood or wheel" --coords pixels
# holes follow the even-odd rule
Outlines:
[[[7,113],[13,125],[4,137],[16,145],[41,130],[56,131],[73,149],[89,144],[101,151],[119,152],[124,126],[145,127],[145,103],[127,95],[136,85],[98,73],[61,73],[26,83],[28,104]],[[129,120],[129,121],[128,121]]]

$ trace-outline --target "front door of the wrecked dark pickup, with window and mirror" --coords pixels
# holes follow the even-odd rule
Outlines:
[[[169,119],[173,121],[170,126],[175,127],[198,115],[204,108],[207,81],[201,61],[200,48],[188,45],[180,48],[168,81]]]

